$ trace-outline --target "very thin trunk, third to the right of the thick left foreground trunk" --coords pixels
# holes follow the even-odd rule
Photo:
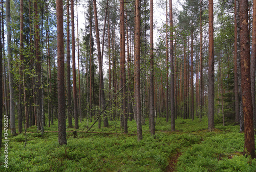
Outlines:
[[[78,30],[78,10],[76,1],[76,25],[77,25],[77,61],[78,61],[78,92],[79,92],[79,120],[82,122],[82,109],[81,109],[81,84],[80,84],[80,63],[79,63],[79,30]]]

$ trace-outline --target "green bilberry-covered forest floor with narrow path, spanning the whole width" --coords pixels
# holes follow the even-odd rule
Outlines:
[[[107,128],[95,125],[90,131],[77,133],[67,128],[67,145],[58,144],[57,121],[48,133],[41,136],[36,127],[25,134],[10,136],[8,168],[4,167],[4,149],[0,155],[0,171],[256,171],[256,160],[243,155],[244,133],[239,126],[216,125],[207,130],[207,118],[178,118],[176,132],[170,131],[170,122],[157,118],[156,135],[151,136],[142,126],[143,139],[137,141],[136,122],[129,121],[130,134],[121,133],[120,121],[109,121]],[[84,119],[79,129],[90,125]],[[83,130],[85,131],[85,129]]]

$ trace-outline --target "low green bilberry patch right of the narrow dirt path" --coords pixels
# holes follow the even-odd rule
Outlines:
[[[256,161],[242,155],[244,134],[238,126],[218,127],[200,144],[184,148],[178,171],[255,171]]]

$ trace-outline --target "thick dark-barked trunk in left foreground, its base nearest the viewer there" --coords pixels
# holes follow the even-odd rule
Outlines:
[[[67,144],[66,114],[65,114],[65,78],[64,78],[64,33],[63,4],[56,0],[57,10],[57,51],[58,51],[58,140],[59,144]]]

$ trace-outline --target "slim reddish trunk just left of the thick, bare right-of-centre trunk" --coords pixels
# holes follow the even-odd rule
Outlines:
[[[203,0],[200,2],[200,90],[199,90],[199,116],[200,121],[203,116],[203,24],[202,24],[202,6]]]

